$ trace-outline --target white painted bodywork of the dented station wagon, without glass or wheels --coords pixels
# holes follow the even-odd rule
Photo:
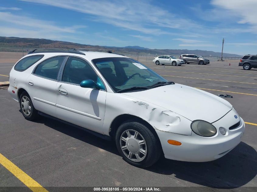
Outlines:
[[[37,53],[39,54],[39,53]],[[23,72],[12,68],[10,72],[9,94],[16,101],[18,90],[25,89],[34,107],[46,114],[76,125],[109,135],[113,120],[123,114],[133,115],[148,122],[156,131],[165,157],[181,161],[211,161],[224,156],[240,143],[245,123],[232,105],[211,93],[189,86],[175,84],[153,89],[114,93],[106,79],[92,64],[92,59],[125,57],[102,52],[40,53],[44,57]],[[34,54],[29,54],[31,56]],[[53,56],[76,56],[87,60],[105,85],[106,90],[82,88],[78,85],[57,82],[32,74],[43,60]],[[26,57],[26,56],[25,56]],[[127,58],[127,57],[126,57]],[[14,83],[15,79],[15,83]],[[29,85],[33,81],[33,86]],[[59,89],[68,92],[62,95]],[[15,93],[12,93],[12,90]],[[174,99],[173,95],[179,95]],[[234,116],[238,116],[235,119]],[[217,133],[212,137],[202,137],[192,132],[194,120],[212,123]],[[229,130],[240,121],[240,125]],[[227,130],[221,135],[219,127]],[[171,145],[167,140],[176,140],[180,146]]]

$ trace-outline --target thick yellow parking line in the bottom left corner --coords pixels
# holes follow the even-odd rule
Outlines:
[[[15,177],[17,177],[21,182],[23,182],[27,187],[30,188],[33,192],[48,192],[44,187],[42,187],[39,183],[33,180],[30,176],[28,176],[23,170],[13,164],[10,160],[8,160],[5,156],[0,153],[0,163],[7,170],[9,170]]]

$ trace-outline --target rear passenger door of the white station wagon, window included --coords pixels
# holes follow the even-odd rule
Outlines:
[[[27,78],[29,94],[35,109],[56,117],[57,76],[65,56],[46,59]]]

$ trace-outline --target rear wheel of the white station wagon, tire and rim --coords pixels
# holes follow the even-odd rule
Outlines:
[[[23,92],[19,98],[20,109],[26,120],[34,120],[38,117],[38,111],[34,108],[30,96],[27,92]]]

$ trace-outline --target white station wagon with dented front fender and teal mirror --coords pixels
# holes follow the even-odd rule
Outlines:
[[[123,159],[138,167],[151,166],[161,154],[191,162],[218,159],[245,130],[226,100],[168,82],[111,52],[33,50],[12,68],[9,81],[25,119],[40,114],[115,140]]]

